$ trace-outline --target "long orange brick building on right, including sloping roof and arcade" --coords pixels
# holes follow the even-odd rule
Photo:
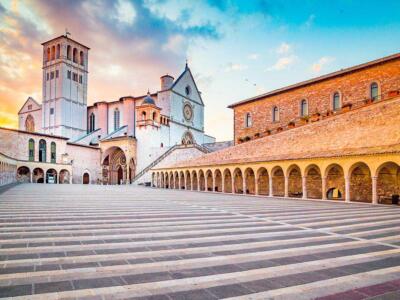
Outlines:
[[[153,185],[388,202],[400,194],[399,91],[396,54],[235,103],[236,145],[156,168]]]

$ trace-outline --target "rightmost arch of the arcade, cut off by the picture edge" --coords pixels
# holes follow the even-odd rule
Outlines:
[[[400,166],[395,162],[385,162],[376,170],[378,202],[400,194]]]

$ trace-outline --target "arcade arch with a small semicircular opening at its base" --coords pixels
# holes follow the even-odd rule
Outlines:
[[[342,166],[331,164],[325,170],[326,199],[343,200],[345,196],[345,180]]]

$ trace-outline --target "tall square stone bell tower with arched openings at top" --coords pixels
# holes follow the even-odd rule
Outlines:
[[[86,134],[89,48],[65,35],[43,43],[42,132]]]

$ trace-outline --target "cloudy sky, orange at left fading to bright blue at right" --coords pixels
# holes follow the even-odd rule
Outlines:
[[[0,126],[41,102],[41,43],[68,28],[91,48],[89,104],[157,91],[188,60],[206,132],[229,140],[229,104],[400,52],[398,12],[399,0],[0,0]]]

